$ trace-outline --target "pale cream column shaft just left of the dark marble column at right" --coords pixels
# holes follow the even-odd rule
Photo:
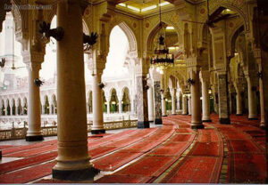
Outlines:
[[[210,74],[209,71],[201,72],[201,81],[202,81],[202,121],[203,122],[211,122],[210,119],[210,102],[209,102],[209,86]]]

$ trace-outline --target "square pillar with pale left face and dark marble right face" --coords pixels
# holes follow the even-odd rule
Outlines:
[[[137,76],[137,116],[138,128],[149,128],[147,106],[147,76]]]

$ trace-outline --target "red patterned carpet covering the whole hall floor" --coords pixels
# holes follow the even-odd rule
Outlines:
[[[217,115],[205,129],[190,129],[190,116],[163,117],[163,126],[88,137],[96,183],[264,183],[265,132],[258,120],[231,116],[219,125]],[[49,179],[57,141],[27,146],[1,145],[0,183],[70,183]],[[45,178],[46,177],[46,178]],[[45,179],[44,179],[45,178]],[[84,181],[83,181],[84,183]]]

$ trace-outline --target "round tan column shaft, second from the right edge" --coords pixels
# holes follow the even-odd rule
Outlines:
[[[255,101],[255,91],[256,87],[252,83],[252,78],[246,76],[247,78],[247,98],[248,98],[248,119],[257,119],[257,107]]]

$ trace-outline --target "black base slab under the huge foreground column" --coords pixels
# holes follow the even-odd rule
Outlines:
[[[94,167],[83,170],[54,170],[52,169],[52,177],[57,180],[65,181],[85,181],[94,180],[94,177],[100,171]]]

